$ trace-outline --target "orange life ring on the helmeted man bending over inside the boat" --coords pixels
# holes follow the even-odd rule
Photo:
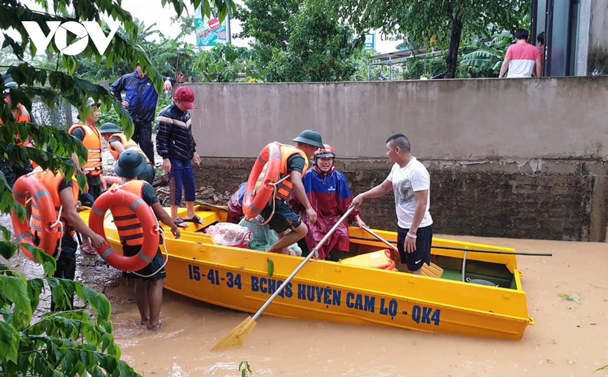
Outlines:
[[[255,183],[258,182],[262,170],[266,166],[266,174],[264,175],[261,187],[255,192]],[[243,196],[243,214],[246,217],[252,219],[258,216],[262,209],[268,204],[274,193],[274,186],[272,183],[276,183],[278,175],[281,171],[281,148],[278,143],[273,142],[266,144],[264,149],[260,152],[257,160],[255,160],[254,167],[249,173],[247,179],[247,186],[245,186],[245,194]]]

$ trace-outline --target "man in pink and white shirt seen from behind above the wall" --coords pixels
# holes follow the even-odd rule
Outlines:
[[[528,43],[528,30],[519,29],[515,32],[516,42],[506,50],[505,60],[500,67],[499,78],[532,77],[534,64],[541,67],[541,60],[536,47]]]

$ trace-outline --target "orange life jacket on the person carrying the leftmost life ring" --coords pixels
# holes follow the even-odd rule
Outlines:
[[[32,175],[36,177],[49,191],[50,197],[53,201],[53,205],[55,206],[55,216],[59,217],[59,220],[61,221],[61,226],[63,226],[63,233],[61,229],[59,229],[60,231],[56,233],[57,239],[60,239],[61,236],[65,233],[73,236],[75,229],[74,226],[72,226],[66,220],[66,217],[64,215],[65,211],[61,208],[61,196],[59,192],[59,186],[61,185],[61,182],[63,182],[63,180],[66,178],[66,176],[61,173],[55,174],[50,170],[33,172]],[[74,199],[72,205],[75,206],[78,202],[78,185],[76,182],[72,182],[72,198]],[[62,209],[61,217],[59,214],[60,209]],[[35,234],[36,231],[40,233],[42,232],[42,225],[43,224],[40,220],[40,211],[38,210],[38,205],[36,203],[36,200],[32,198],[32,218],[30,219],[30,231],[32,231],[33,234]]]

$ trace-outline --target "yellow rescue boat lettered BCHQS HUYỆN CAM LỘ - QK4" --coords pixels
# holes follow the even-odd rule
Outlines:
[[[223,222],[226,213],[202,206],[196,207],[196,213],[206,224],[188,223],[188,228],[181,228],[179,240],[164,228],[168,290],[255,313],[302,262],[302,257],[217,245],[203,231],[206,226]],[[88,222],[88,211],[80,214]],[[109,243],[121,251],[111,216],[106,218],[104,227]],[[396,240],[394,232],[376,233],[390,242]],[[362,229],[351,227],[350,236],[350,256],[386,248]],[[465,253],[450,248],[478,251]],[[441,277],[362,267],[357,265],[360,263],[348,263],[346,253],[334,256],[336,261],[313,259],[264,314],[521,339],[525,328],[534,321],[528,316],[520,280],[523,274],[517,268],[514,252],[513,248],[434,238],[432,262],[440,271],[443,269]],[[400,263],[397,268],[402,270]],[[492,286],[483,284],[490,282]]]

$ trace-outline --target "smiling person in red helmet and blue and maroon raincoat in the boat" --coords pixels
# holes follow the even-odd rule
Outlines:
[[[302,220],[308,226],[308,234],[305,237],[308,250],[312,250],[319,243],[344,215],[353,200],[346,177],[334,167],[335,158],[334,148],[330,144],[323,144],[323,148],[317,149],[314,154],[315,165],[302,177],[308,201],[317,212],[316,222],[309,221],[297,198],[291,200],[292,208],[302,214]],[[365,223],[359,217],[359,212],[359,209],[351,212],[348,221],[354,220],[361,227]],[[340,224],[330,239],[320,246],[319,259],[328,257],[332,250],[350,251],[347,222]]]

